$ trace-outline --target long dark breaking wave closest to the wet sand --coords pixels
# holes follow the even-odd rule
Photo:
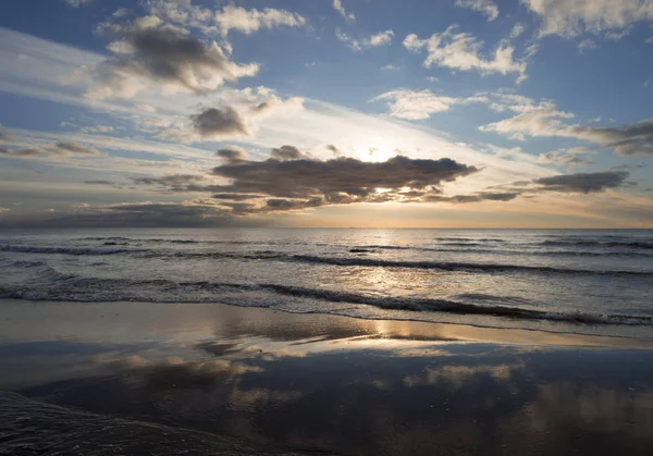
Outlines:
[[[261,296],[260,293],[264,295]],[[306,288],[266,283],[174,282],[169,280],[136,281],[130,279],[69,278],[61,286],[0,286],[0,298],[53,301],[150,301],[150,303],[223,303],[245,307],[279,307],[292,297],[313,301],[372,306],[414,312],[500,317],[525,320],[547,320],[578,324],[651,325],[653,317],[628,315],[593,315],[583,312],[552,312],[515,306],[527,301],[512,297],[484,297],[484,304],[470,304],[442,298],[370,296],[342,291]],[[461,295],[469,300],[473,296]],[[501,303],[512,305],[501,305]],[[305,306],[304,312],[320,312],[320,306]]]

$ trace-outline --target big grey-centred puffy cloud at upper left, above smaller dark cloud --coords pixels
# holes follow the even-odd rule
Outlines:
[[[157,16],[104,23],[98,34],[112,39],[113,57],[95,67],[98,83],[87,93],[93,99],[132,98],[151,84],[169,94],[206,94],[259,70],[256,63],[232,62],[215,41],[205,42]]]

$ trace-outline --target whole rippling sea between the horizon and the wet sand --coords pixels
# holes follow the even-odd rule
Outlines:
[[[653,336],[651,230],[0,233],[1,299],[222,303]]]

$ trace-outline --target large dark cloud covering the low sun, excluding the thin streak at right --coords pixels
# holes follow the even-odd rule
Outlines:
[[[316,160],[294,146],[272,149],[270,158],[251,161],[239,149],[222,149],[225,161],[210,177],[229,184],[207,184],[196,175],[138,177],[135,183],[169,192],[206,192],[234,215],[301,210],[329,205],[399,201],[438,194],[441,184],[477,173],[451,159],[420,160],[396,156],[383,162],[353,158]],[[246,202],[245,202],[246,201]]]

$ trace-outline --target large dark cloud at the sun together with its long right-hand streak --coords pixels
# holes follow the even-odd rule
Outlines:
[[[293,146],[272,149],[262,161],[247,159],[239,148],[218,152],[225,163],[212,176],[226,184],[205,184],[202,176],[139,177],[135,182],[174,192],[212,193],[214,207],[246,215],[357,202],[512,201],[542,193],[589,194],[627,184],[627,172],[564,174],[489,187],[469,195],[443,195],[441,185],[478,172],[451,159],[423,160],[404,156],[384,162],[353,158],[316,160]]]

